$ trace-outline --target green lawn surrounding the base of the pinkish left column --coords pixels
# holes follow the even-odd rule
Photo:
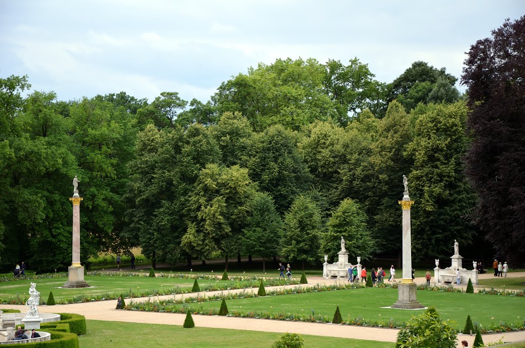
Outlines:
[[[184,288],[191,291],[194,279],[180,279],[180,278],[149,278],[149,277],[109,277],[109,276],[94,276],[86,275],[85,280],[96,288],[83,289],[57,289],[59,286],[67,282],[67,277],[57,277],[49,279],[24,280],[20,279],[13,282],[0,283],[0,298],[7,298],[12,296],[28,297],[29,286],[31,282],[36,282],[37,290],[40,292],[40,298],[47,300],[50,291],[53,291],[55,300],[64,298],[73,298],[74,296],[82,295],[102,295],[106,293],[125,294],[131,289],[134,292],[154,290],[154,289],[171,289]],[[205,285],[218,284],[246,284],[245,281],[222,281],[222,280],[198,280],[201,289]],[[257,282],[256,285],[259,283]]]

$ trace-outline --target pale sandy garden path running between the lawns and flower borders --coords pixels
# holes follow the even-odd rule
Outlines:
[[[480,278],[490,278],[493,275],[481,274]],[[525,272],[514,272],[508,273],[508,277],[525,277]],[[343,283],[345,280],[327,280],[321,277],[309,277],[309,284],[302,285],[283,285],[283,286],[272,286],[266,289],[282,289],[282,288],[294,288],[296,286],[307,287],[312,284],[334,284]],[[416,283],[424,283],[424,278],[416,278]],[[211,296],[216,294],[226,293],[238,293],[238,292],[257,292],[257,288],[251,289],[235,289],[235,290],[224,290],[224,291],[208,291],[198,293],[201,296]],[[148,300],[160,300],[160,299],[173,299],[173,298],[187,298],[195,296],[196,293],[191,294],[177,294],[177,295],[164,295],[164,296],[151,296],[150,298],[138,298],[127,301],[148,301]],[[61,312],[61,313],[78,313],[86,316],[86,319],[91,320],[103,320],[103,321],[124,321],[124,322],[137,322],[137,323],[150,323],[150,324],[171,324],[171,325],[182,325],[184,323],[185,314],[178,313],[158,313],[158,312],[138,312],[138,311],[119,311],[115,309],[116,302],[111,301],[99,301],[99,302],[88,302],[88,303],[75,303],[75,304],[64,304],[55,305],[53,308],[47,308],[47,306],[40,306],[40,312]],[[25,311],[24,305],[2,305],[3,308],[19,309]],[[360,340],[374,340],[384,342],[395,342],[398,330],[396,329],[384,329],[379,327],[362,327],[362,326],[351,326],[351,325],[333,325],[333,324],[320,324],[320,323],[307,323],[307,322],[292,322],[292,321],[280,321],[280,320],[264,320],[264,319],[251,319],[251,318],[233,318],[223,316],[209,316],[209,315],[193,315],[193,320],[196,326],[201,327],[214,327],[223,329],[236,329],[236,330],[253,330],[253,331],[264,331],[264,332],[295,332],[299,334],[308,335],[319,335],[319,336],[332,336],[332,337],[343,337],[350,339]],[[502,338],[503,337],[503,338]],[[509,332],[499,334],[485,334],[483,335],[483,341],[485,344],[491,342],[497,342],[502,338],[504,342],[516,342],[525,340],[525,332]],[[474,343],[474,336],[459,336],[459,341],[466,340],[470,343]],[[459,347],[460,345],[458,345]]]

